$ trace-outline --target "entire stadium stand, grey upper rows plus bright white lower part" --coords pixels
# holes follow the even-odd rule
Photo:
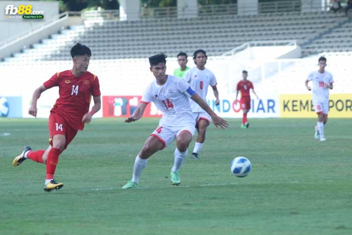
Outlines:
[[[280,92],[286,93],[306,92],[302,81],[309,71],[316,69],[318,55],[329,57],[327,70],[334,74],[337,81],[343,82],[344,74],[352,72],[347,64],[347,56],[352,53],[352,22],[342,12],[204,15],[192,19],[169,17],[167,20],[147,18],[119,21],[118,14],[114,12],[109,12],[108,18],[103,13],[99,13],[98,17],[94,13],[91,14],[92,19],[86,20],[83,25],[63,29],[59,34],[33,44],[32,48],[5,58],[0,62],[0,68],[8,74],[9,81],[20,84],[18,92],[24,94],[35,87],[26,87],[21,82],[26,77],[21,76],[21,71],[17,69],[19,66],[23,71],[34,71],[30,75],[32,78],[40,68],[40,77],[48,78],[53,71],[71,66],[69,49],[80,42],[93,51],[90,70],[96,72],[101,80],[107,81],[101,83],[105,94],[141,94],[141,84],[145,84],[145,78],[150,77],[146,58],[160,51],[174,57],[180,51],[192,54],[195,49],[206,49],[212,60],[210,69],[218,77],[219,90],[227,94],[234,92],[234,74],[240,74],[243,68],[249,71],[250,79],[258,90],[278,92],[281,89]],[[230,56],[220,56],[253,40],[296,40],[302,46],[303,56],[308,58],[239,61]],[[177,66],[174,58],[169,61],[169,68]],[[236,64],[236,69],[233,64]],[[144,67],[146,69],[140,69]],[[119,81],[119,86],[115,79]],[[126,86],[134,89],[127,91]],[[349,86],[337,86],[334,92],[346,93],[348,89]]]

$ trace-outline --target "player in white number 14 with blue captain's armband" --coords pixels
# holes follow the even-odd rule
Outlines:
[[[172,185],[181,183],[179,171],[185,161],[187,148],[192,141],[196,125],[189,97],[208,112],[216,127],[225,129],[228,126],[228,123],[218,117],[185,80],[165,74],[165,58],[166,55],[162,53],[149,57],[150,71],[153,73],[155,81],[144,91],[142,100],[132,116],[125,120],[125,122],[129,123],[140,119],[147,104],[150,102],[153,102],[163,112],[158,127],[150,134],[143,148],[136,156],[132,180],[124,185],[123,189],[136,188],[149,156],[167,147],[175,138],[177,147],[174,151],[174,164],[171,168],[170,178]]]

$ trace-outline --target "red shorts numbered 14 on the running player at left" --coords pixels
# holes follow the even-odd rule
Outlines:
[[[74,136],[77,134],[77,130],[71,128],[66,124],[64,119],[60,117],[57,113],[50,113],[49,116],[49,143],[52,146],[52,138],[54,135],[64,135],[66,138],[66,143],[63,149],[72,141]],[[63,150],[62,149],[62,150]]]

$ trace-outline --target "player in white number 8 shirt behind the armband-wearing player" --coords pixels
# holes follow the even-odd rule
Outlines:
[[[219,105],[219,92],[216,87],[216,78],[212,71],[205,67],[207,63],[207,54],[204,50],[199,49],[193,53],[193,60],[196,67],[189,69],[184,76],[184,79],[191,85],[196,93],[206,102],[208,87],[212,87],[215,104]],[[198,137],[193,149],[192,159],[199,159],[199,152],[202,149],[205,141],[205,133],[208,125],[211,122],[210,115],[204,111],[196,102],[190,101],[194,118],[197,122]]]

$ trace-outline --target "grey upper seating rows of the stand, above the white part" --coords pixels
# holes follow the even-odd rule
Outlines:
[[[61,34],[43,39],[33,48],[6,60],[67,59],[70,47],[78,41],[89,45],[97,59],[142,58],[158,51],[170,55],[180,50],[191,53],[194,48],[207,48],[214,56],[248,41],[292,39],[303,45],[304,56],[308,56],[322,52],[324,45],[339,51],[348,50],[348,41],[335,43],[334,38],[350,35],[350,27],[343,13],[330,12],[169,18],[167,21],[90,21],[62,30]],[[200,35],[202,40],[199,40]],[[324,44],[319,43],[322,36],[326,39]]]

